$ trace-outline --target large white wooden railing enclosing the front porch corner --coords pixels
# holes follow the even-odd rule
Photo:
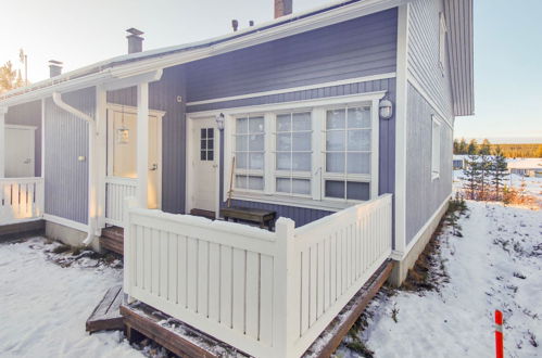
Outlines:
[[[124,290],[255,357],[299,357],[391,254],[391,194],[294,229],[127,208]]]

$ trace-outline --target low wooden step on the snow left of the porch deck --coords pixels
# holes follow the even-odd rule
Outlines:
[[[123,303],[123,286],[113,286],[105,292],[102,301],[96,306],[86,323],[87,332],[111,331],[123,329],[121,304]]]

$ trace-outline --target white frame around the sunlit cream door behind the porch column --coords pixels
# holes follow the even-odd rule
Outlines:
[[[112,161],[110,161],[110,157],[111,157],[111,151],[112,151],[112,145],[113,145],[113,138],[110,136],[110,133],[112,132],[112,122],[110,122],[110,112],[119,112],[122,113],[124,111],[124,113],[128,113],[128,114],[133,114],[133,115],[136,115],[137,117],[137,107],[133,106],[133,105],[123,105],[123,104],[117,104],[117,103],[109,103],[106,104],[106,143],[108,143],[108,148],[105,150],[105,178],[116,178],[114,176],[110,176],[109,174],[113,171],[113,163]],[[164,111],[159,111],[159,110],[151,110],[149,108],[149,117],[156,117],[157,122],[156,122],[156,125],[157,125],[157,128],[156,128],[156,131],[157,131],[157,144],[159,144],[159,153],[157,153],[157,165],[159,165],[159,169],[156,170],[156,176],[157,176],[157,189],[156,189],[156,196],[157,196],[157,208],[159,209],[162,209],[162,172],[163,172],[163,169],[162,169],[162,151],[163,151],[163,148],[164,148],[164,144],[163,144],[163,136],[162,136],[162,122],[163,122],[163,118],[165,116],[166,112]],[[106,194],[105,194],[106,195]],[[108,197],[105,196],[105,203],[108,202]]]

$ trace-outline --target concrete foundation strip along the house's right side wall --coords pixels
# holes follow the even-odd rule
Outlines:
[[[437,215],[432,217],[429,225],[425,227],[425,230],[421,232],[420,236],[418,238],[414,246],[412,246],[411,251],[403,257],[402,260],[395,261],[395,266],[389,279],[389,282],[392,285],[399,287],[406,279],[408,270],[412,269],[416,264],[416,260],[418,259],[419,255],[424,252],[424,248],[426,248],[427,243],[431,240],[431,236],[437,227],[439,226],[440,220],[446,213],[448,205],[449,203],[446,201],[446,203],[442,205]]]

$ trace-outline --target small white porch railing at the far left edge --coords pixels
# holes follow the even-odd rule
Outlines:
[[[43,178],[0,178],[0,225],[43,216]]]

